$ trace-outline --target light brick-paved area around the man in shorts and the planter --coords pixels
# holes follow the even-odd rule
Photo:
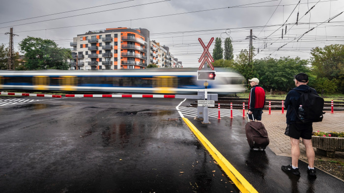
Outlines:
[[[269,134],[270,144],[269,148],[276,154],[281,156],[290,155],[290,140],[289,137],[284,134],[286,130],[286,113],[282,114],[281,110],[271,111],[271,115],[268,115],[269,111],[264,110],[262,114],[262,122],[265,125],[266,130]],[[322,132],[344,132],[343,119],[344,111],[337,111],[331,113],[331,111],[325,111],[324,119],[322,122],[313,123],[313,131]],[[300,158],[307,159],[305,146],[300,143]],[[315,160],[333,160],[344,162],[344,153],[336,152],[335,158],[327,158],[326,156],[319,155],[315,148]]]

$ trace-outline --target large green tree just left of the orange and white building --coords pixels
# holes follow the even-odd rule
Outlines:
[[[52,40],[28,36],[19,46],[25,53],[25,68],[28,70],[69,69],[70,49],[58,48]]]

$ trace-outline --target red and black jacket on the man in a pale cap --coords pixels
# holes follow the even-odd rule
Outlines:
[[[259,85],[255,85],[249,96],[249,110],[253,111],[254,109],[262,110],[265,105],[265,91]]]

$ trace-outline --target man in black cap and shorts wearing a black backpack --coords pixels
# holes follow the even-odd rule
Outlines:
[[[317,95],[315,89],[307,85],[307,74],[297,74],[294,78],[294,82],[296,88],[289,91],[285,102],[285,106],[287,108],[287,128],[285,135],[290,137],[291,164],[288,166],[282,166],[282,170],[294,175],[300,175],[298,160],[300,157],[299,139],[301,137],[302,142],[306,147],[306,156],[309,163],[307,173],[309,177],[316,178],[314,168],[315,152],[312,146],[312,123],[322,120],[323,99]],[[316,108],[320,109],[321,112]],[[317,114],[313,115],[315,111]]]

